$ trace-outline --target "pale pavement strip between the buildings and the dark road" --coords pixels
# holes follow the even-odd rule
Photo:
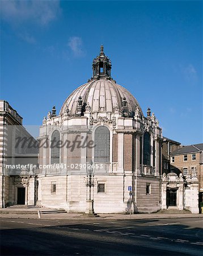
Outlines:
[[[99,217],[85,216],[83,213],[41,213],[44,220],[142,220],[142,219],[164,219],[164,218],[202,218],[203,214],[192,213],[138,213],[138,214],[99,214]],[[16,213],[1,212],[0,218],[28,218],[38,219],[37,210],[29,213],[27,209],[16,210]]]

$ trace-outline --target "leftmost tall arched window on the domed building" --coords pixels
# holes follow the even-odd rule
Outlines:
[[[60,163],[60,146],[58,141],[60,141],[60,133],[58,130],[55,130],[52,133],[52,141],[50,142],[51,164]]]

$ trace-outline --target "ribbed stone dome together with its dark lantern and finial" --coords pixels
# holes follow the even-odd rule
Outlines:
[[[66,98],[61,115],[68,111],[70,117],[78,116],[78,107],[81,107],[81,116],[88,111],[121,113],[121,116],[133,117],[137,108],[142,114],[136,98],[111,78],[111,60],[104,55],[103,46],[100,55],[93,60],[92,69],[91,80]]]

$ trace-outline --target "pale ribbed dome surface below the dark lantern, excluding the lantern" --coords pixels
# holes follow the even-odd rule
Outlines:
[[[115,113],[115,107],[122,108],[122,101],[125,99],[128,106],[129,117],[133,117],[136,108],[142,110],[133,95],[121,85],[116,84],[112,79],[100,78],[92,80],[75,89],[64,102],[60,114],[65,109],[70,110],[70,116],[77,113],[78,99],[82,97],[84,105],[90,106],[91,113],[111,112]],[[85,113],[85,111],[84,111]]]

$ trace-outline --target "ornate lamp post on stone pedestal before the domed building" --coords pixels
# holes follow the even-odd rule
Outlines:
[[[85,214],[88,215],[95,215],[94,212],[94,186],[96,185],[95,179],[94,179],[94,168],[92,167],[93,163],[92,160],[90,162],[90,168],[89,164],[87,164],[87,175],[84,177],[84,184],[87,187],[86,190],[86,211]],[[91,188],[92,189],[92,197],[91,197]]]

